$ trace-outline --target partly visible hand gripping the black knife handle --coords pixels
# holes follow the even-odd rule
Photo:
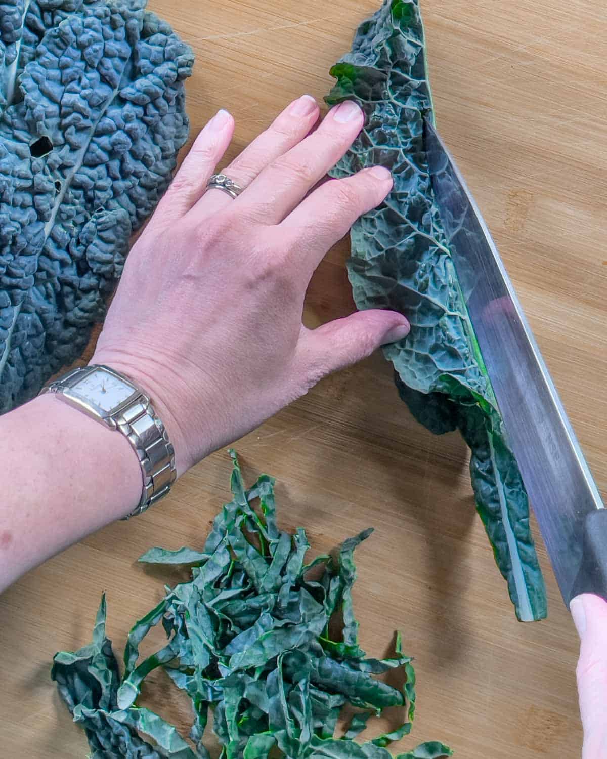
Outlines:
[[[607,603],[583,594],[571,601],[580,635],[577,688],[583,725],[582,759],[607,757]]]

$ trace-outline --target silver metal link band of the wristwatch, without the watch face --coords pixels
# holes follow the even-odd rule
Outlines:
[[[156,416],[149,398],[140,395],[128,408],[112,416],[118,430],[137,452],[143,472],[143,493],[139,505],[124,517],[141,514],[165,496],[175,482],[175,450],[168,441],[164,424]]]

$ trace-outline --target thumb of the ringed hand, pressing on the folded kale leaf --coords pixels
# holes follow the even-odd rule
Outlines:
[[[403,339],[409,331],[407,320],[395,311],[357,311],[307,330],[301,350],[319,379],[370,356],[380,345]]]

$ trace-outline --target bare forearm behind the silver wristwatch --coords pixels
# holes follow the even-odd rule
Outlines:
[[[0,417],[0,461],[0,591],[141,496],[127,439],[52,395]]]

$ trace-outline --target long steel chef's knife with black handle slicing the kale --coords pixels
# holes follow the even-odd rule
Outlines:
[[[429,173],[470,321],[565,603],[607,600],[607,509],[495,243],[425,121]]]

